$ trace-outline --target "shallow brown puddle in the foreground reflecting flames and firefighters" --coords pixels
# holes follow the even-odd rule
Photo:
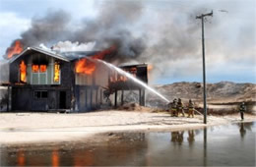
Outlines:
[[[0,166],[255,166],[256,122],[0,147]]]

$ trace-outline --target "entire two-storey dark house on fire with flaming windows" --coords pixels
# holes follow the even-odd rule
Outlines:
[[[28,47],[10,59],[8,109],[86,112],[100,108],[111,94],[117,106],[118,92],[123,104],[124,91],[131,89],[138,90],[139,103],[145,105],[144,87],[96,61],[111,52],[74,54]],[[120,68],[148,83],[146,64]]]

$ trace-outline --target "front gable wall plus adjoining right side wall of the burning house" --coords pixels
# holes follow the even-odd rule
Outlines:
[[[27,65],[27,83],[20,82],[21,61]],[[41,62],[42,61],[42,62]],[[54,83],[54,63],[60,64],[60,83]],[[45,73],[32,73],[33,64],[46,64]],[[48,111],[56,109],[75,109],[87,112],[100,107],[103,101],[103,87],[108,84],[109,71],[98,66],[93,75],[76,74],[74,62],[65,62],[49,55],[29,52],[10,64],[10,82],[13,110]],[[34,91],[47,91],[47,98],[34,98]],[[64,95],[63,95],[64,94]],[[72,99],[75,99],[73,106]],[[65,105],[63,105],[65,101]]]

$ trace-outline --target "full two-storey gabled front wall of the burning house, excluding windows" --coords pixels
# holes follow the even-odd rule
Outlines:
[[[25,61],[27,65],[27,83],[20,82],[20,63]],[[42,62],[40,62],[42,61]],[[55,83],[54,63],[60,64],[60,82]],[[32,73],[32,64],[42,63],[47,65],[45,73]],[[72,63],[65,62],[42,53],[31,52],[22,55],[10,64],[10,83],[12,86],[12,109],[47,111],[56,109],[70,109],[71,97],[74,86],[74,72]],[[47,91],[47,98],[34,98],[33,93],[37,90]],[[63,92],[64,97],[61,97]],[[65,99],[64,99],[65,98]],[[65,104],[61,104],[65,101]]]

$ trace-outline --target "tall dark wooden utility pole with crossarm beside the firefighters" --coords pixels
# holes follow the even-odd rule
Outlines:
[[[213,17],[213,11],[208,14],[197,16],[196,19],[201,19],[202,22],[202,51],[203,51],[203,83],[204,83],[204,124],[207,124],[207,102],[206,102],[206,66],[205,66],[205,36],[204,36],[204,21],[205,17]]]

